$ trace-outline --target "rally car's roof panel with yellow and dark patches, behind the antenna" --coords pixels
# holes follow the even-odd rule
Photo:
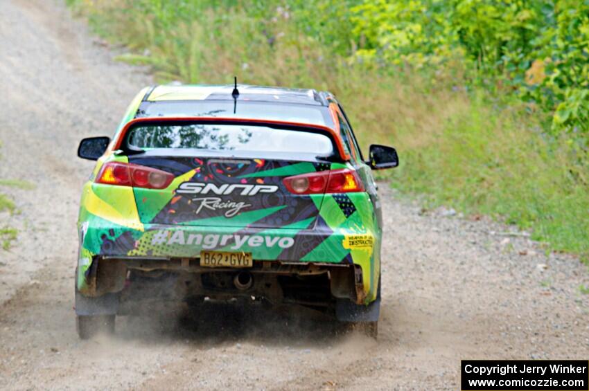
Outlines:
[[[238,100],[252,102],[279,102],[291,104],[311,104],[327,106],[328,96],[315,89],[288,89],[283,87],[263,87],[238,84]],[[233,100],[233,84],[228,85],[183,85],[167,84],[150,88],[143,101],[162,102],[173,100]]]

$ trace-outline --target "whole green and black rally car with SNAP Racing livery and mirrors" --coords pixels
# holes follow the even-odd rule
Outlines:
[[[80,201],[78,334],[114,331],[150,302],[302,304],[376,336],[380,202],[331,93],[240,86],[143,89]]]

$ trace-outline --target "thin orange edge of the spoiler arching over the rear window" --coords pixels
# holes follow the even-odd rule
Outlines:
[[[333,114],[332,114],[333,115]],[[337,116],[336,116],[337,118]],[[326,134],[329,134],[333,137],[335,141],[335,146],[337,147],[337,152],[340,154],[340,157],[344,161],[350,160],[350,155],[344,149],[344,144],[342,143],[342,138],[340,137],[339,131],[335,131],[331,129],[331,127],[326,127],[322,125],[311,125],[311,124],[304,124],[300,122],[288,122],[288,121],[278,121],[278,120],[260,120],[260,119],[249,119],[249,118],[225,118],[225,117],[148,117],[148,118],[135,118],[134,120],[130,120],[125,124],[125,127],[121,129],[121,132],[118,134],[118,138],[112,144],[111,150],[116,150],[121,147],[121,143],[123,143],[123,139],[127,134],[127,131],[133,125],[137,123],[143,122],[162,122],[162,121],[186,121],[186,122],[240,122],[240,123],[250,123],[250,124],[271,124],[271,125],[285,125],[285,126],[294,126],[294,127],[302,127],[308,129],[316,129],[320,131],[324,131]],[[339,120],[337,121],[337,129],[339,127]]]

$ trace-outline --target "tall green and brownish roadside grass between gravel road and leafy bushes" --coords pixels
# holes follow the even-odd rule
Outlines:
[[[464,87],[461,63],[434,71],[351,64],[280,15],[239,6],[186,14],[156,0],[69,0],[96,32],[152,67],[159,82],[328,89],[340,98],[366,153],[397,147],[385,175],[428,206],[452,206],[531,230],[547,248],[589,254],[589,156],[548,137],[546,114],[482,87]],[[139,86],[138,86],[139,89]]]

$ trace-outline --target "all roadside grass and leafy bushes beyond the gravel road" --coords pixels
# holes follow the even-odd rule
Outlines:
[[[161,82],[333,91],[393,185],[589,253],[589,0],[69,0]]]

